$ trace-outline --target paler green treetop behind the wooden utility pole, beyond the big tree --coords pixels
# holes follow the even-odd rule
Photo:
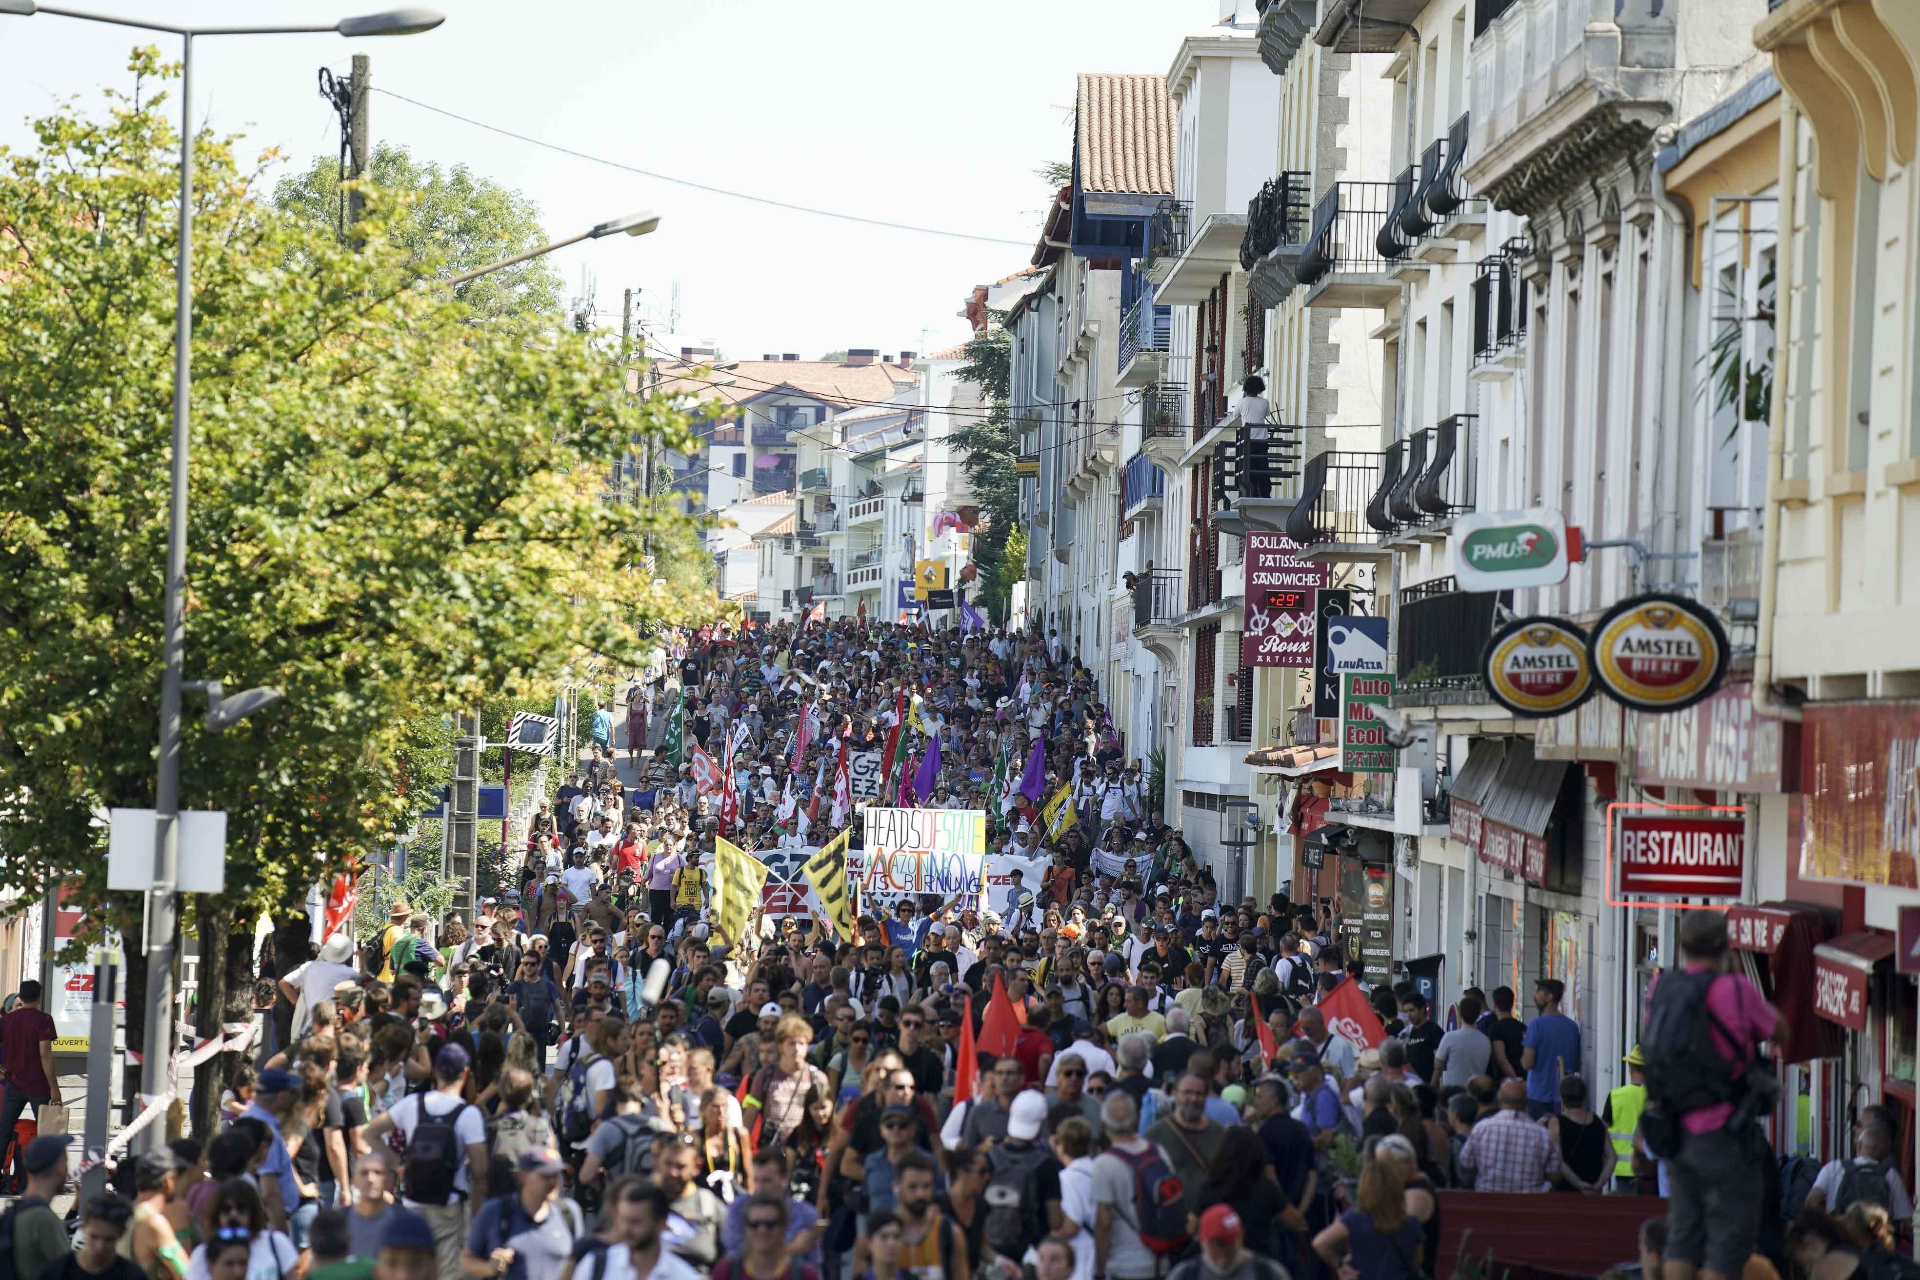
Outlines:
[[[453,276],[547,242],[532,200],[467,165],[442,169],[417,161],[403,146],[380,142],[365,182],[390,209],[388,240],[405,249],[407,265],[422,274]],[[280,178],[273,190],[273,201],[284,213],[321,236],[338,234],[342,198],[340,159],[334,155],[321,155],[305,173]],[[468,280],[455,288],[455,297],[474,315],[490,319],[559,315],[561,276],[536,257]]]

